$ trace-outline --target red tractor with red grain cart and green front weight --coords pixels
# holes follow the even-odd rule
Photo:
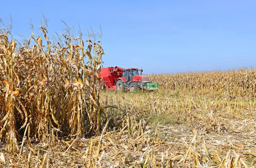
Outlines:
[[[140,75],[139,75],[140,71]],[[116,91],[136,91],[138,89],[157,90],[158,83],[150,83],[143,70],[138,68],[108,67],[101,68],[100,76],[104,88]]]

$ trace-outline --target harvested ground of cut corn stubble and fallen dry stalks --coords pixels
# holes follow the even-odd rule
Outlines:
[[[93,137],[32,143],[31,149],[24,145],[20,157],[2,150],[4,165],[255,167],[255,100],[179,93],[102,91],[101,104],[114,111],[115,128]]]

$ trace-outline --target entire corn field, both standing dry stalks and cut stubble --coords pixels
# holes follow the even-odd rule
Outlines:
[[[152,74],[101,90],[101,43],[0,34],[0,167],[256,166],[256,70]],[[86,47],[85,47],[86,46]]]

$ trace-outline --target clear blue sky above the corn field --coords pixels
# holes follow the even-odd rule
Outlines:
[[[207,71],[256,65],[256,1],[246,0],[13,0],[13,35],[29,37],[29,18],[49,34],[68,25],[84,34],[102,27],[104,66],[143,67],[145,73]],[[86,40],[87,37],[84,37]]]

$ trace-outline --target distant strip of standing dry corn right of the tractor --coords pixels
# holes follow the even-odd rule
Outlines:
[[[191,93],[254,97],[256,93],[256,70],[240,68],[229,71],[189,72],[150,75],[163,89],[187,90]]]

